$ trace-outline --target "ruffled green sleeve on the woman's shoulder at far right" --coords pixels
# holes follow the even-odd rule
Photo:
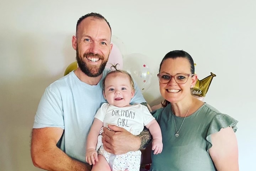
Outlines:
[[[238,121],[228,116],[227,114],[218,114],[214,116],[207,132],[207,137],[206,137],[207,150],[209,150],[212,147],[212,140],[210,135],[219,132],[220,129],[222,128],[227,128],[227,127],[232,127],[233,131],[236,132],[236,130],[238,129],[236,127],[237,123]]]

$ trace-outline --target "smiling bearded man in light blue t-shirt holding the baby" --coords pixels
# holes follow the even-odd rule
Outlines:
[[[31,156],[36,167],[50,171],[89,171],[85,144],[94,115],[103,102],[102,79],[112,49],[111,27],[100,14],[82,16],[76,25],[72,46],[78,69],[49,85],[34,120]],[[137,86],[137,85],[136,85]],[[145,103],[136,87],[132,103]],[[143,148],[148,132],[136,137],[125,129],[109,126],[103,143],[108,152],[123,154]]]

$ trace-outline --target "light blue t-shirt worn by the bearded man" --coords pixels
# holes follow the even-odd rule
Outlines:
[[[86,138],[94,115],[106,100],[102,80],[111,71],[105,69],[97,85],[88,85],[70,72],[49,85],[39,102],[33,128],[59,127],[64,133],[58,146],[73,159],[85,162]],[[136,82],[131,103],[146,102]]]

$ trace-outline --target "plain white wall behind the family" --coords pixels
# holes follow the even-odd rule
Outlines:
[[[239,121],[236,136],[241,171],[255,170],[255,5],[253,0],[0,2],[0,168],[37,171],[30,133],[44,89],[75,61],[71,36],[78,18],[99,12],[126,52],[148,56],[158,72],[170,50],[183,49],[197,64],[199,79],[213,72],[205,101]],[[160,101],[158,80],[144,92]]]

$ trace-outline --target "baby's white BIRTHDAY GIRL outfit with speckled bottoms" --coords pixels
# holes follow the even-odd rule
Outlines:
[[[155,119],[148,108],[141,104],[135,104],[128,107],[116,107],[108,103],[103,103],[94,117],[103,122],[103,127],[107,127],[108,124],[114,124],[128,130],[133,135],[139,135],[144,129],[144,125],[147,125]],[[130,151],[122,155],[108,153],[103,148],[101,134],[102,128],[100,135],[98,136],[96,150],[98,151],[98,154],[105,157],[110,164],[112,171],[124,171],[126,169],[129,171],[139,171],[140,150]]]

